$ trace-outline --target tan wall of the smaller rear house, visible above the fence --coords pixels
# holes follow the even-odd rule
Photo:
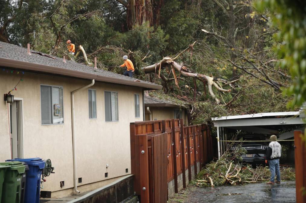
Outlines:
[[[174,109],[173,107],[150,107],[150,111],[152,113],[152,120],[165,120],[165,119],[174,119]],[[147,107],[145,107],[145,120],[150,119],[150,114],[147,111]],[[185,115],[185,110],[181,109],[182,119],[184,124],[188,123],[187,115]]]

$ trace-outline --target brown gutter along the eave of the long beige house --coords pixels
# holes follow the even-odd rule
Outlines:
[[[14,59],[0,58],[0,64],[1,66],[7,66],[7,67],[12,67],[12,68],[33,70],[33,71],[39,71],[39,72],[44,72],[44,73],[54,73],[58,75],[78,77],[78,78],[83,78],[83,79],[91,79],[91,80],[94,79],[94,80],[98,80],[101,82],[107,82],[107,83],[113,83],[113,84],[144,87],[150,90],[161,90],[162,89],[162,86],[158,84],[149,84],[149,83],[137,82],[137,81],[132,81],[132,80],[124,80],[124,79],[119,79],[119,78],[114,78],[114,77],[101,76],[101,75],[93,74],[93,73],[85,73],[85,72],[71,70],[71,69],[59,68],[56,66],[37,64],[37,63],[19,61],[19,60],[14,60]],[[88,68],[90,69],[91,67],[88,66]]]

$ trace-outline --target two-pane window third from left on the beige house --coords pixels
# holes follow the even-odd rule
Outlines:
[[[118,121],[118,93],[104,92],[105,121]]]

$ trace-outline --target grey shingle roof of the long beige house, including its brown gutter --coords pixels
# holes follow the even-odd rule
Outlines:
[[[38,70],[41,68],[41,70],[39,70],[42,72],[55,73],[65,76],[96,79],[99,81],[116,84],[128,84],[132,86],[145,87],[148,89],[162,88],[162,86],[155,83],[138,80],[102,69],[95,69],[93,67],[76,63],[71,60],[66,60],[66,63],[64,63],[62,58],[58,58],[56,56],[48,57],[46,56],[47,54],[36,52],[34,50],[31,50],[31,52],[35,53],[28,55],[26,48],[5,42],[0,42],[0,66],[8,66],[28,70]],[[17,64],[19,65],[17,66]],[[21,66],[20,64],[24,64],[24,66]],[[34,66],[35,68],[33,68]]]

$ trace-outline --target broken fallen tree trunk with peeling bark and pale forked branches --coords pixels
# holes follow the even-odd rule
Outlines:
[[[234,81],[228,82],[224,79],[214,78],[214,77],[210,77],[210,76],[207,76],[207,75],[204,75],[204,74],[195,73],[193,70],[188,69],[186,66],[184,66],[184,64],[179,64],[179,63],[175,62],[175,59],[177,59],[183,52],[185,52],[187,50],[191,50],[191,57],[192,57],[192,49],[193,49],[193,45],[195,43],[196,43],[196,41],[193,44],[189,45],[188,48],[186,48],[184,51],[179,53],[174,58],[164,57],[160,62],[158,62],[156,64],[153,64],[153,65],[150,65],[150,66],[144,67],[143,68],[144,73],[146,73],[146,74],[147,73],[157,74],[157,71],[158,71],[158,77],[161,78],[164,82],[169,82],[169,81],[174,80],[175,85],[177,86],[179,91],[180,91],[180,87],[178,85],[178,82],[181,79],[181,77],[185,77],[185,78],[189,77],[189,78],[194,78],[194,79],[200,80],[200,81],[203,82],[203,85],[207,85],[209,94],[219,104],[220,100],[214,94],[212,87],[214,86],[218,91],[230,92],[231,91],[230,89],[222,88],[222,85],[220,83],[231,84]],[[161,73],[162,69],[166,69],[166,72],[169,74],[168,78]],[[177,75],[176,71],[178,72],[178,75]],[[171,73],[173,74],[173,78],[169,78]]]

